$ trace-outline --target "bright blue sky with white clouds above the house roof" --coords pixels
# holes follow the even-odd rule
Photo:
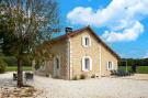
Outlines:
[[[91,25],[121,57],[148,57],[148,0],[58,0],[61,28]]]

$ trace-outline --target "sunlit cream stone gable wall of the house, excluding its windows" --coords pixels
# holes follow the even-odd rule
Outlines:
[[[90,47],[82,46],[82,36],[84,35],[89,35],[91,39]],[[83,33],[80,33],[71,37],[70,41],[71,41],[70,66],[72,77],[75,76],[79,77],[81,74],[84,74],[88,77],[91,77],[92,75],[100,76],[100,72],[101,76],[109,76],[110,70],[106,69],[109,61],[112,61],[114,63],[114,69],[117,69],[117,58],[113,54],[111,54],[101,43],[99,43],[96,39],[88,31],[83,31]],[[83,56],[90,56],[92,58],[92,70],[89,72],[82,70]]]

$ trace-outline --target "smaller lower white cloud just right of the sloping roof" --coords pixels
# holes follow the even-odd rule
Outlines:
[[[123,32],[105,31],[102,35],[106,42],[135,41],[144,32],[144,26],[137,21]]]

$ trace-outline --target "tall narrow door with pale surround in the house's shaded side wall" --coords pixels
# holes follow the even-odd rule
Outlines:
[[[60,58],[59,56],[54,58],[54,77],[60,76]]]

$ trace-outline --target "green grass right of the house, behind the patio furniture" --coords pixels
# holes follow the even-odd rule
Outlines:
[[[125,66],[119,66],[118,69],[126,70]],[[127,70],[132,70],[130,66],[127,66]],[[137,73],[139,74],[148,74],[148,66],[137,66]]]

